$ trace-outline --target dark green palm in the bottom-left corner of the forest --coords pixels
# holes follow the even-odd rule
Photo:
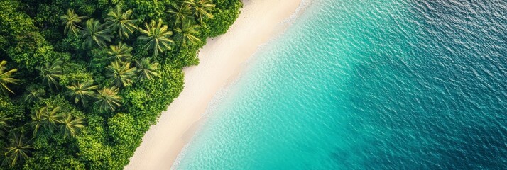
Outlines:
[[[9,164],[10,167],[16,166],[18,162],[24,162],[28,159],[33,148],[30,145],[31,140],[26,140],[26,137],[19,132],[13,133],[9,138],[9,145],[5,147],[4,154],[2,154],[2,163]]]

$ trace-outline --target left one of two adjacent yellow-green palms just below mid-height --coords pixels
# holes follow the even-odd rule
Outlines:
[[[77,82],[70,86],[67,86],[67,96],[70,96],[75,103],[81,102],[83,106],[86,106],[87,99],[95,96],[97,85],[93,85],[93,81],[86,81],[84,83]]]

